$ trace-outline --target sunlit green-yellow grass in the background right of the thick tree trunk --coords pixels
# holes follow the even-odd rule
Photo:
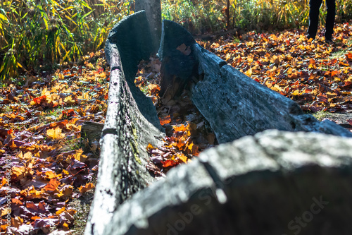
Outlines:
[[[225,28],[226,0],[162,0],[163,18],[181,23],[192,33]],[[337,0],[337,22],[352,18],[352,0]],[[325,23],[325,4],[320,23]],[[245,30],[281,30],[308,25],[309,0],[230,0],[230,27]]]

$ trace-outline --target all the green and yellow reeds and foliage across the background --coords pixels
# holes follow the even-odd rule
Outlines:
[[[163,18],[194,34],[225,28],[227,0],[161,0]],[[309,0],[230,0],[230,28],[277,30],[308,25]],[[3,0],[0,80],[80,61],[103,48],[108,32],[133,13],[133,0]],[[320,18],[324,23],[325,6]],[[337,0],[337,20],[352,18],[352,0]]]

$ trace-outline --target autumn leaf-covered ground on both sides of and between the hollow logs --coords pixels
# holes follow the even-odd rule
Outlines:
[[[332,119],[351,130],[352,26],[337,24],[332,44],[324,42],[322,31],[314,41],[307,40],[305,32],[304,28],[249,32],[199,44],[318,119]],[[136,76],[136,84],[156,106],[160,67],[152,58],[141,63]],[[82,140],[80,128],[84,121],[104,122],[108,76],[101,51],[54,74],[27,75],[0,88],[0,234],[83,233],[96,183],[99,144]],[[172,104],[177,119],[170,116],[170,108],[166,112],[163,105],[158,107],[168,143],[162,148],[149,146],[151,162],[159,165],[149,170],[163,174],[216,144],[187,99]],[[180,118],[184,107],[192,113]],[[10,212],[11,226],[7,226]]]

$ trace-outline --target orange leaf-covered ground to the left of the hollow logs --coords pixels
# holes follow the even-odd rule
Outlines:
[[[84,121],[105,119],[109,74],[103,57],[103,51],[92,53],[82,66],[0,89],[1,234],[73,227],[77,215],[70,203],[94,188],[99,163],[98,143],[82,140],[80,129]]]

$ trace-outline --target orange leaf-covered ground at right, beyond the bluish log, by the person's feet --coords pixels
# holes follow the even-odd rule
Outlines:
[[[334,32],[330,44],[322,30],[308,40],[306,28],[200,44],[304,111],[352,112],[352,25],[337,24]]]

